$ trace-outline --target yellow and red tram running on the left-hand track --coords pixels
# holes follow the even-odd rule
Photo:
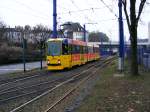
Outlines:
[[[62,70],[100,58],[99,48],[68,38],[47,40],[47,69]]]

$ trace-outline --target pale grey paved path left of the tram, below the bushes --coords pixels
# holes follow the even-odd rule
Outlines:
[[[43,66],[46,66],[45,61],[43,62]],[[40,62],[26,63],[26,70],[31,70],[31,69],[40,68],[40,67],[41,67]],[[13,73],[13,72],[18,72],[18,71],[23,71],[23,70],[24,70],[23,63],[0,66],[0,74]]]

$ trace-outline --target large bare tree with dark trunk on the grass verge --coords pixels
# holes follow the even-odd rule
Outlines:
[[[130,33],[131,41],[131,75],[139,75],[138,72],[138,61],[137,61],[137,27],[142,14],[146,0],[140,0],[138,12],[136,12],[137,0],[122,0],[124,6],[124,13],[127,20],[127,25]],[[130,11],[127,9],[127,5],[130,4]],[[130,14],[130,15],[129,15]]]

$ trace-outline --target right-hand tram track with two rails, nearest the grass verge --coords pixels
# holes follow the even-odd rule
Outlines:
[[[53,82],[54,85],[52,87],[49,87],[49,88],[45,89],[44,91],[41,92],[42,94],[40,93],[40,95],[38,95],[37,97],[33,98],[32,100],[29,100],[28,102],[25,102],[24,104],[18,106],[15,109],[11,110],[11,112],[16,112],[16,111],[24,108],[25,106],[29,105],[30,103],[33,103],[33,102],[39,100],[43,96],[45,96],[45,95],[47,95],[47,94],[55,91],[57,88],[60,88],[61,86],[65,85],[65,84],[68,84],[68,83],[70,83],[72,81],[81,80],[80,83],[78,83],[75,87],[71,88],[70,91],[68,91],[63,97],[61,97],[59,100],[57,100],[56,102],[54,102],[50,106],[50,108],[48,108],[48,109],[45,110],[45,112],[50,111],[53,107],[55,107],[57,104],[59,104],[59,102],[61,102],[69,94],[71,94],[76,88],[78,88],[83,82],[85,82],[86,80],[88,80],[98,69],[106,66],[107,64],[109,64],[114,59],[115,58],[109,58],[107,60],[102,60],[101,63],[97,63],[97,64],[94,64],[94,65],[88,66],[86,70],[84,70],[84,71],[82,71],[80,73],[76,73],[72,77],[68,77],[66,80],[60,81],[59,83],[54,83],[54,82],[57,82],[57,81],[54,80],[54,82]],[[89,71],[90,71],[90,75],[87,75],[89,73]],[[45,83],[50,83],[50,82],[45,82]],[[38,86],[38,85],[32,85],[32,87],[33,86],[35,87],[35,86]],[[38,91],[36,91],[36,92],[38,92]],[[3,94],[5,94],[5,93],[7,93],[7,92],[4,92]],[[0,94],[2,94],[2,93],[0,93]],[[29,94],[26,94],[26,95],[29,95]]]

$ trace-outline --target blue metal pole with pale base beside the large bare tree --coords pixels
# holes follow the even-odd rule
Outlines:
[[[119,0],[119,66],[118,69],[123,71],[124,69],[124,31],[122,21],[122,2]]]

